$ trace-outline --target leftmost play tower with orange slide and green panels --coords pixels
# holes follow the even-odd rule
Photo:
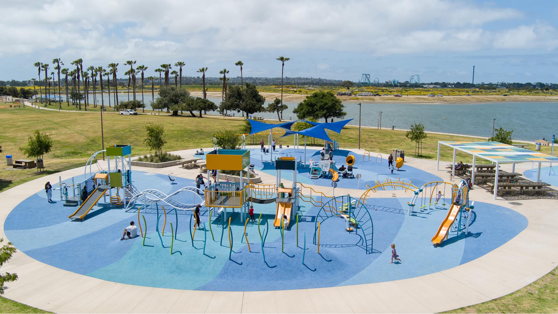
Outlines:
[[[107,155],[108,170],[103,170],[99,163],[97,163],[95,156],[100,153]],[[112,204],[125,204],[126,196],[124,194],[124,187],[131,184],[131,170],[130,158],[132,154],[132,146],[130,145],[112,145],[104,150],[98,151],[93,154],[85,164],[84,182],[78,184],[78,195],[83,199],[85,193],[88,194],[78,209],[68,216],[71,220],[81,219],[84,220],[85,216],[93,209],[99,202],[101,197],[105,197],[107,192],[109,194],[110,203]],[[114,157],[113,166],[110,165],[111,157]],[[92,164],[97,164],[99,172],[92,172]],[[89,167],[89,175],[87,173]],[[85,191],[85,192],[84,192]],[[114,192],[114,193],[113,193]],[[75,190],[74,190],[75,195]],[[73,200],[74,201],[74,200]],[[106,203],[106,199],[104,200]]]

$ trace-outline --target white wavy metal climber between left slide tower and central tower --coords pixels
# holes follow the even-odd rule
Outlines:
[[[193,210],[197,204],[185,204],[182,202],[175,201],[174,199],[171,198],[172,196],[175,196],[176,194],[185,191],[196,194],[201,199],[201,202],[199,204],[201,204],[201,206],[205,206],[204,192],[196,187],[184,187],[169,195],[161,191],[158,191],[156,189],[147,189],[145,191],[138,192],[135,188],[132,187],[130,191],[132,192],[133,196],[130,198],[128,205],[126,206],[126,210],[128,210],[128,208],[133,207],[133,205],[137,201],[140,201],[140,197],[142,197],[141,201],[144,201],[145,203],[149,203],[149,204],[165,202],[169,204],[169,206],[174,207],[178,210]]]

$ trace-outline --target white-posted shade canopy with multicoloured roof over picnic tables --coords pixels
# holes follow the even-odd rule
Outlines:
[[[558,157],[539,153],[521,147],[503,144],[501,142],[484,141],[484,142],[438,142],[438,155],[436,169],[440,170],[440,149],[441,146],[448,146],[453,149],[453,163],[448,165],[450,173],[463,177],[470,177],[473,184],[487,188],[497,196],[524,194],[527,196],[545,196],[549,191],[555,191],[549,188],[550,184],[541,182],[541,164],[557,163]],[[473,155],[473,164],[461,166],[469,168],[469,170],[456,169],[455,156],[457,151],[462,151]],[[477,157],[484,160],[492,161],[492,164],[477,164]],[[503,163],[512,164],[512,172],[504,172],[500,169]],[[533,163],[537,164],[537,180],[532,182],[525,178],[521,178],[521,173],[516,173],[516,163]],[[484,185],[484,186],[483,186]]]

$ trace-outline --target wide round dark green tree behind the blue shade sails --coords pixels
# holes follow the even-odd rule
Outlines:
[[[299,120],[314,118],[320,120],[329,118],[343,118],[347,112],[343,111],[343,103],[332,92],[315,92],[296,106],[292,111]]]

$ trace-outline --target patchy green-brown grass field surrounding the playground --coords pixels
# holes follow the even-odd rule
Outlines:
[[[239,130],[243,121],[238,118],[189,116],[171,117],[166,115],[120,116],[116,114],[104,115],[104,143],[131,144],[133,155],[144,155],[150,151],[143,145],[145,128],[148,122],[161,123],[165,126],[165,151],[211,147],[213,134],[223,130]],[[25,158],[18,148],[24,146],[27,137],[34,130],[45,131],[52,136],[54,147],[52,152],[45,155],[46,171],[37,173],[35,169],[8,170],[8,166],[0,167],[0,192],[15,185],[40,178],[46,174],[57,173],[62,170],[83,166],[87,158],[95,151],[101,150],[100,115],[86,113],[71,113],[37,110],[35,108],[9,108],[8,104],[0,104],[0,121],[3,132],[0,134],[0,146],[3,155],[11,154],[15,159]],[[275,130],[276,132],[278,131]],[[346,127],[341,135],[330,132],[332,139],[340,142],[341,148],[358,147],[358,128]],[[254,136],[253,142],[258,143],[264,136]],[[250,137],[247,141],[252,140]],[[479,141],[473,137],[448,136],[429,134],[423,142],[422,156],[419,158],[436,159],[437,141]],[[267,141],[267,137],[266,137]],[[292,137],[277,139],[278,144],[291,145]],[[303,141],[301,141],[302,143]],[[308,141],[309,144],[311,140]],[[321,145],[320,141],[316,142]],[[250,142],[247,142],[250,144]],[[406,139],[405,131],[362,130],[361,148],[382,153],[384,158],[392,149],[404,149],[407,156],[413,156],[414,142]],[[530,145],[529,149],[534,149]],[[543,153],[550,153],[550,149],[543,147]],[[442,149],[441,159],[451,161],[452,151]],[[376,156],[372,155],[372,159]],[[470,155],[458,153],[457,160],[470,163]],[[358,163],[358,160],[357,160]],[[553,270],[545,277],[529,286],[511,293],[508,296],[470,307],[460,308],[451,313],[475,312],[557,312],[558,270]],[[33,307],[21,305],[0,297],[0,312],[3,313],[46,313]]]

